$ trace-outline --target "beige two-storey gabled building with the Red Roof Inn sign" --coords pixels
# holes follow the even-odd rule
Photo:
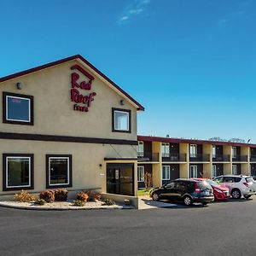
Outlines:
[[[0,79],[0,196],[21,189],[137,195],[137,111],[81,55]]]

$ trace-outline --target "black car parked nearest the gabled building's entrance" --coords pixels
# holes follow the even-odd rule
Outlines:
[[[149,195],[154,201],[183,201],[186,206],[194,202],[200,202],[205,206],[214,201],[212,187],[208,183],[185,178],[175,179],[160,188],[152,189]]]

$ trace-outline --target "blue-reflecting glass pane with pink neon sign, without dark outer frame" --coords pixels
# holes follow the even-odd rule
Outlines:
[[[6,96],[7,119],[14,121],[30,122],[30,99],[15,96]]]

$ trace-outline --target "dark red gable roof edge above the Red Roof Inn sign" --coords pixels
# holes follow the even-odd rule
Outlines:
[[[99,71],[96,67],[94,67],[89,61],[85,60],[84,57],[81,55],[73,55],[73,56],[61,59],[59,61],[49,62],[42,66],[32,67],[30,69],[26,69],[24,71],[5,76],[3,78],[0,78],[0,83],[10,79],[16,79],[18,77],[21,77],[30,73],[34,73],[45,68],[54,67],[56,65],[60,65],[61,63],[64,63],[67,61],[73,61],[73,60],[82,61],[85,65],[90,67],[94,72],[96,72],[99,76],[101,76],[102,79],[105,79],[111,86],[113,86],[113,89],[116,90],[120,95],[124,96],[128,100],[128,102],[131,102],[132,105],[135,105],[137,110],[142,110],[142,111],[144,110],[144,107],[139,102],[137,102],[134,98],[132,98],[127,92],[125,92],[125,90],[121,89],[119,85],[115,84],[111,79],[108,79],[106,75],[104,75],[101,71]]]

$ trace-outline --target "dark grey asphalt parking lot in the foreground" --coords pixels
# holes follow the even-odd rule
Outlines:
[[[207,207],[0,208],[1,255],[255,255],[256,198]]]

